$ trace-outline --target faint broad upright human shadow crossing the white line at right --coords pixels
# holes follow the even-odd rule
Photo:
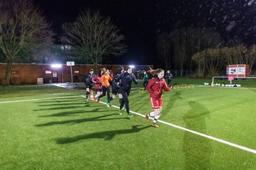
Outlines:
[[[207,134],[206,117],[210,111],[196,101],[189,101],[188,104],[191,109],[183,115],[186,128]],[[210,157],[213,154],[213,147],[206,137],[185,132],[183,152],[186,156],[186,169],[211,169]]]

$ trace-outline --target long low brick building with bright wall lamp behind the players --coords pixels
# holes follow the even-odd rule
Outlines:
[[[128,65],[122,65],[125,68]],[[153,68],[152,65],[149,65]],[[117,71],[119,65],[103,65],[98,64],[98,69],[106,67],[112,69],[113,72]],[[83,81],[85,74],[93,69],[92,64],[75,64],[72,66],[73,82]],[[135,65],[134,70],[148,70],[147,65]],[[2,84],[6,73],[6,63],[0,63],[0,84]],[[97,71],[95,71],[97,74]],[[139,73],[135,74],[139,78]],[[38,79],[41,78],[41,79]],[[43,80],[43,84],[50,83],[64,83],[71,82],[71,69],[66,64],[61,64],[60,68],[53,67],[52,64],[13,64],[11,67],[10,84],[21,85],[21,84],[39,84]]]

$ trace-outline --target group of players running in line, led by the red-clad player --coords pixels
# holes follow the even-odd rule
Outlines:
[[[148,79],[146,72],[144,72],[144,88],[149,91],[151,98],[151,105],[154,111],[151,113],[146,113],[146,122],[149,117],[154,117],[153,123],[151,124],[155,128],[159,128],[156,125],[162,111],[163,100],[162,100],[162,90],[171,91],[171,88],[166,84],[164,79],[163,69],[150,69],[148,72],[154,75],[152,79]],[[146,80],[146,81],[145,81]],[[132,68],[127,68],[120,66],[117,68],[116,74],[113,74],[109,69],[102,68],[99,69],[97,75],[94,74],[94,70],[90,69],[89,74],[85,76],[85,87],[86,87],[86,98],[90,99],[90,91],[92,89],[92,84],[95,84],[95,96],[94,101],[100,102],[100,98],[106,96],[107,94],[107,107],[110,107],[110,101],[116,98],[117,94],[119,96],[119,115],[122,115],[122,111],[126,110],[128,118],[132,118],[134,115],[129,113],[129,99],[132,88],[132,81],[138,84],[137,78],[132,73]],[[112,96],[110,97],[110,86],[112,86]],[[125,106],[125,109],[124,109]]]

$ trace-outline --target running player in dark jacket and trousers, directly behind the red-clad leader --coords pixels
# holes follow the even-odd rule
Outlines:
[[[122,108],[125,105],[128,118],[132,118],[134,115],[129,113],[129,93],[131,91],[131,85],[132,81],[134,81],[135,84],[138,84],[138,81],[134,74],[132,73],[132,68],[127,69],[127,72],[124,72],[122,78],[119,78],[120,81],[120,88],[118,90],[118,94],[121,94],[120,98],[120,107],[119,107],[119,115],[122,115]],[[119,81],[118,80],[118,81]]]

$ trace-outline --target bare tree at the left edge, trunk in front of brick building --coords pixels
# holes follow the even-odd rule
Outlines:
[[[9,86],[11,65],[22,50],[36,49],[52,42],[46,19],[31,0],[0,1],[0,50],[6,60],[4,86]]]

